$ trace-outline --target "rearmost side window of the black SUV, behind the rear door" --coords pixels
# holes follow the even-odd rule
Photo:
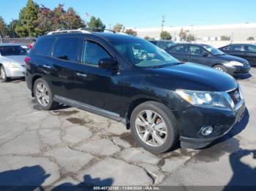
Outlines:
[[[49,55],[54,38],[39,39],[33,49],[37,55]]]

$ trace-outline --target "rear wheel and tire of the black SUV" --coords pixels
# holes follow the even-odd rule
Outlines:
[[[45,89],[46,88],[46,89]],[[53,101],[53,94],[45,79],[39,78],[34,82],[34,97],[43,110],[55,109],[59,104]]]

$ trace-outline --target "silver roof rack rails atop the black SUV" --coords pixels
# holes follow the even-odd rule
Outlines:
[[[113,34],[116,33],[116,31],[110,30],[110,29],[104,29],[104,28],[78,28],[74,30],[66,30],[66,29],[58,29],[57,31],[51,31],[47,35],[51,34],[67,34],[67,33],[83,33],[83,34],[91,34],[91,32],[112,32]]]

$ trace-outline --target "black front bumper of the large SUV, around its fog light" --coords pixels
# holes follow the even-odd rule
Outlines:
[[[225,109],[211,109],[192,106],[179,114],[178,126],[180,130],[181,147],[200,149],[225,136],[237,122],[244,117],[245,103],[241,100],[234,111]],[[203,136],[202,127],[211,125],[213,133]]]

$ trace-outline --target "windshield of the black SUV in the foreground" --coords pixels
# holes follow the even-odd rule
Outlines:
[[[178,63],[176,58],[173,58],[165,50],[143,39],[115,40],[111,41],[111,44],[135,66],[154,67],[166,64],[176,65]]]

